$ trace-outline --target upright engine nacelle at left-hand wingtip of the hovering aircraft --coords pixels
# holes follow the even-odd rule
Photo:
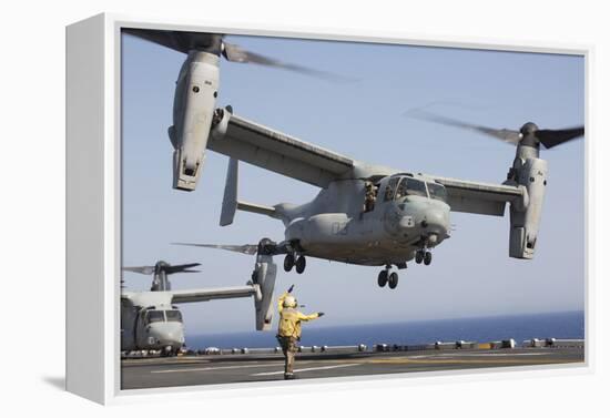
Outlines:
[[[220,71],[218,57],[192,51],[184,61],[174,94],[174,124],[169,129],[174,146],[173,187],[194,191],[205,161]]]

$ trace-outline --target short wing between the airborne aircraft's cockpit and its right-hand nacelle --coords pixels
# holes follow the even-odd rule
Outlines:
[[[525,188],[433,176],[447,188],[451,211],[504,216],[507,202],[525,198]]]

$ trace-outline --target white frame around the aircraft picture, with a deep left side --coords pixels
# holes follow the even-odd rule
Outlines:
[[[120,386],[120,254],[121,254],[121,28],[213,31],[235,34],[281,35],[289,38],[354,40],[417,45],[460,47],[505,51],[551,52],[583,55],[586,74],[590,72],[589,45],[479,43],[467,38],[403,38],[400,34],[355,33],[314,30],[286,31],[285,28],[244,26],[240,28],[159,20],[132,16],[98,14],[67,28],[67,389],[100,404],[144,400],[146,397],[197,398],[202,396],[250,396],[273,386],[282,391],[294,389],[279,383],[174,387],[121,390]],[[586,86],[589,89],[589,85]],[[589,95],[587,94],[586,103]],[[589,113],[586,114],[586,123]],[[586,166],[589,152],[586,152]],[[586,196],[588,208],[588,194]],[[588,223],[586,223],[588,226]],[[589,299],[589,277],[586,295]],[[586,340],[590,341],[586,316]],[[517,371],[549,375],[581,374],[590,369],[590,345],[586,363],[573,368],[540,366],[538,370]],[[504,370],[431,373],[425,376],[374,376],[350,380],[353,388],[417,384],[420,380],[501,376]],[[346,380],[299,381],[307,390],[325,390]]]

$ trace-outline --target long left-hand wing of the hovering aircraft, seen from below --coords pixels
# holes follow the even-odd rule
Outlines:
[[[212,151],[318,187],[354,169],[347,156],[230,112],[224,112],[224,119],[210,135],[207,147]]]

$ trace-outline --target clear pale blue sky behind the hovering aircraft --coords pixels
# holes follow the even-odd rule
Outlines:
[[[464,180],[501,183],[515,147],[470,131],[409,118],[426,109],[477,124],[519,129],[575,126],[584,120],[584,60],[518,53],[362,42],[227,35],[285,62],[343,74],[332,82],[254,64],[221,62],[218,106],[356,160]],[[279,242],[283,224],[238,212],[218,226],[227,157],[206,153],[195,192],[172,188],[174,82],[185,55],[123,37],[123,265],[201,263],[173,275],[173,288],[243,285],[254,257],[172,242]],[[377,286],[378,267],[309,257],[303,275],[276,257],[276,295],[291,284],[311,326],[579,310],[584,306],[584,141],[542,151],[549,162],[536,257],[508,257],[509,220],[451,213],[453,236],[430,266],[409,264],[394,290]],[[303,203],[318,188],[241,163],[240,197],[273,205]],[[150,277],[124,274],[130,290]],[[183,305],[186,335],[254,329],[253,300]],[[276,319],[276,318],[275,318]],[[274,320],[274,327],[276,322]]]

